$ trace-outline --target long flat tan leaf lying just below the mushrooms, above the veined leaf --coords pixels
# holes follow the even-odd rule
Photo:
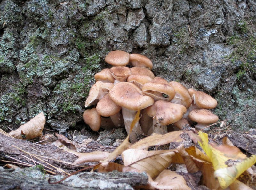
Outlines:
[[[191,131],[173,131],[166,133],[164,135],[153,134],[134,143],[130,148],[148,149],[149,146],[165,145],[170,142],[181,142],[183,141],[183,139],[180,137],[182,133],[188,133],[188,135],[193,141],[199,139],[198,135],[194,134]]]

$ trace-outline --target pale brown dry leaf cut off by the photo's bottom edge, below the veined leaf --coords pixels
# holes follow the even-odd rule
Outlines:
[[[172,189],[172,190],[191,190],[185,179],[174,171],[163,170],[157,178],[154,180],[155,183],[151,183],[153,187],[159,190]]]

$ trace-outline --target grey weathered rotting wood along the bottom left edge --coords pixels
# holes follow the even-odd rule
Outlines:
[[[0,189],[133,189],[133,186],[145,185],[148,177],[145,173],[90,173],[82,172],[71,176],[60,184],[48,184],[57,181],[62,176],[50,176],[44,174],[36,168],[25,169],[3,169],[0,167]]]

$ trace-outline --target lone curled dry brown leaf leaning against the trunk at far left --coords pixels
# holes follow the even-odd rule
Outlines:
[[[9,134],[15,137],[16,139],[34,139],[42,135],[44,125],[45,117],[43,112],[41,112],[24,125],[21,125],[15,131],[11,131]]]

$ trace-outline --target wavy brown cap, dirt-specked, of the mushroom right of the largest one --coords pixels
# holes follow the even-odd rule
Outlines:
[[[186,107],[181,104],[174,104],[164,100],[156,101],[146,110],[147,114],[161,125],[169,125],[179,121],[187,111]]]

